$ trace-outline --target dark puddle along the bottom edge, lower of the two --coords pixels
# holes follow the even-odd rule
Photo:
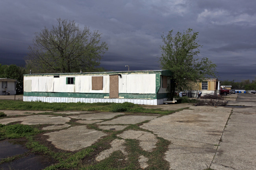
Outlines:
[[[1,170],[41,170],[50,166],[53,160],[49,157],[37,154],[28,155],[21,159],[0,165]]]

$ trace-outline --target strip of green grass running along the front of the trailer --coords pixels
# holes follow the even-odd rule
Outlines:
[[[168,110],[146,109],[138,104],[124,103],[47,103],[1,100],[0,110],[41,110],[41,111],[98,111],[98,112],[130,112],[168,115]]]

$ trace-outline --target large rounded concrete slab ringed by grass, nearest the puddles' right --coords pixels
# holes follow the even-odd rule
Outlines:
[[[66,130],[45,133],[44,135],[49,136],[47,140],[51,141],[56,148],[76,151],[91,146],[100,137],[107,134],[97,130],[87,129],[86,126],[73,126]]]

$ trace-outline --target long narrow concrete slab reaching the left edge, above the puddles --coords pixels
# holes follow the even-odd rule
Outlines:
[[[52,115],[30,115],[26,117],[0,119],[0,124],[8,124],[16,121],[22,121],[21,124],[65,124],[70,121],[70,118]]]

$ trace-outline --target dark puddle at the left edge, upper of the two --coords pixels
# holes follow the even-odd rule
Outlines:
[[[28,149],[24,147],[25,141],[0,141],[0,158],[24,154]]]

